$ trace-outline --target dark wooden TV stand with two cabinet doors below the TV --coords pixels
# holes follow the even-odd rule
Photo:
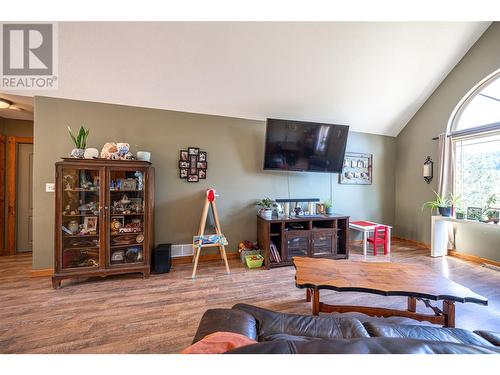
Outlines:
[[[257,240],[267,269],[291,266],[294,256],[348,259],[349,216],[299,215],[266,219],[257,215]],[[280,261],[272,256],[271,243],[276,246]]]

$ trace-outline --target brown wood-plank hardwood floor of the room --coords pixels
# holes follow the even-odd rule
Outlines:
[[[352,260],[363,260],[359,245]],[[387,261],[383,255],[369,261]],[[394,241],[393,262],[421,263],[489,299],[489,306],[457,303],[457,327],[500,331],[500,272],[465,260],[431,258],[429,250]],[[191,343],[203,312],[244,302],[310,314],[293,267],[249,270],[231,260],[191,264],[169,274],[63,281],[30,278],[31,256],[0,257],[0,353],[177,353]],[[398,277],[398,275],[394,275]],[[405,308],[406,298],[323,291],[330,303]],[[426,312],[421,303],[418,311]]]

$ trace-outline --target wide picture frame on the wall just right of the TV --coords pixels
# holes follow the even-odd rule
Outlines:
[[[373,154],[346,152],[339,184],[371,185],[373,183]]]

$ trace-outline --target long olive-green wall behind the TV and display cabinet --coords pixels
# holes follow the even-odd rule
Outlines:
[[[256,239],[254,203],[264,196],[330,196],[337,212],[352,219],[394,222],[393,137],[349,134],[348,151],[374,154],[373,185],[338,185],[338,176],[325,173],[263,171],[265,123],[238,118],[163,111],[47,97],[35,98],[34,268],[53,265],[54,194],[45,183],[54,181],[54,163],[72,146],[66,127],[91,129],[88,147],[100,149],[107,141],[123,141],[132,151],[152,153],[156,170],[155,242],[190,243],[198,229],[203,192],[220,193],[218,208],[229,251],[239,241]],[[181,148],[208,151],[208,178],[187,183],[178,177]]]

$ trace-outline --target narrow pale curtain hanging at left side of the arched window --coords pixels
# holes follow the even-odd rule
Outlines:
[[[446,133],[439,135],[439,173],[438,194],[453,194],[453,179],[455,177],[455,148],[452,137]],[[455,226],[448,227],[448,249],[455,248]]]

